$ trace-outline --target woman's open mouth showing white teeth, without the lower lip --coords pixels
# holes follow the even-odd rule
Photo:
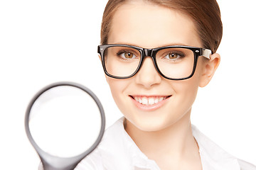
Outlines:
[[[167,98],[171,96],[130,96],[134,101],[142,106],[154,106],[159,103],[163,103]]]

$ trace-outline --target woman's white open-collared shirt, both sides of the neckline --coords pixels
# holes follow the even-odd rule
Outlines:
[[[160,170],[129,137],[123,121],[120,118],[105,131],[100,145],[75,170]],[[215,145],[194,125],[192,132],[198,142],[203,170],[256,170],[256,166],[236,159]]]

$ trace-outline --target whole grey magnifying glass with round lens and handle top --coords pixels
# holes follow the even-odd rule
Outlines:
[[[99,145],[105,113],[90,89],[58,82],[32,98],[25,128],[44,170],[70,170]]]

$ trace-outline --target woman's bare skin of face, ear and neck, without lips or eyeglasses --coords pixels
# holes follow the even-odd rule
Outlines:
[[[125,19],[124,19],[125,18]],[[154,48],[166,45],[202,47],[193,21],[174,9],[129,1],[114,13],[109,44]],[[160,169],[202,169],[198,145],[191,131],[191,107],[198,87],[206,86],[220,62],[199,57],[191,79],[171,81],[156,72],[150,57],[129,79],[106,77],[114,101],[124,114],[124,128],[139,149]],[[159,108],[144,111],[131,96],[171,96]]]

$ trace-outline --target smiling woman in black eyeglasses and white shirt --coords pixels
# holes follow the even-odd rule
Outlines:
[[[76,169],[256,169],[211,142],[190,115],[220,63],[215,0],[110,0],[98,48],[124,114]]]

